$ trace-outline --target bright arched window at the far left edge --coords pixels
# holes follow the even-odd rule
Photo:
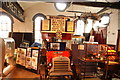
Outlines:
[[[0,14],[0,37],[8,38],[9,32],[12,32],[12,20],[6,13]]]

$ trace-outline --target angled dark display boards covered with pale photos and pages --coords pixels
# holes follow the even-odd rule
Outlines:
[[[17,48],[16,63],[18,67],[39,74],[41,49],[38,47]]]

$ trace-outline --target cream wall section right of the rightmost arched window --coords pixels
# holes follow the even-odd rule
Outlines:
[[[110,14],[110,24],[107,27],[107,44],[116,45],[117,35],[118,35],[118,10],[111,9]]]

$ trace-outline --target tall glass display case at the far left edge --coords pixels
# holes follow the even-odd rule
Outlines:
[[[0,73],[7,75],[15,65],[14,50],[15,41],[13,38],[0,38]]]

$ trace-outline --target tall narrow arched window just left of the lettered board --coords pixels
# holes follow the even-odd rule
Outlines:
[[[41,34],[41,22],[46,19],[46,16],[43,14],[36,14],[33,17],[34,21],[34,42],[42,44],[42,34]]]

